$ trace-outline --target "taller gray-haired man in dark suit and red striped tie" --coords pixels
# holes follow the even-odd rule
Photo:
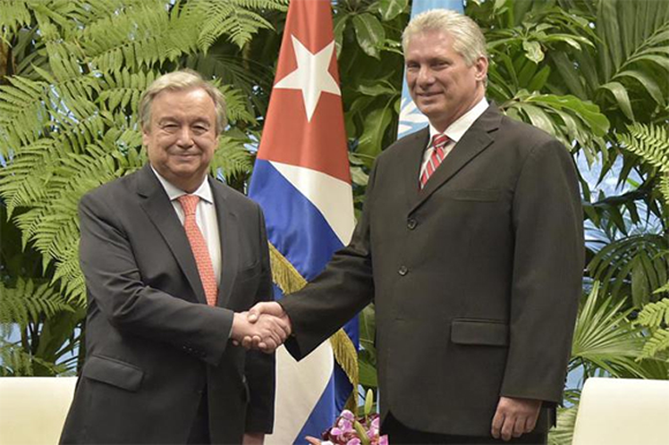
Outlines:
[[[303,357],[373,301],[391,443],[545,443],[584,263],[572,158],[488,105],[469,18],[420,14],[402,43],[429,128],[378,156],[351,244],[326,271],[250,319],[290,321],[286,346]]]

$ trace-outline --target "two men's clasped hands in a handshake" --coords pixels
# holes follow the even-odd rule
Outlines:
[[[270,354],[284,344],[291,332],[291,320],[284,308],[271,301],[258,303],[248,312],[235,313],[231,338],[235,345]]]

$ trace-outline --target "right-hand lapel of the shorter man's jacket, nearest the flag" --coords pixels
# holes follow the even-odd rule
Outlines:
[[[232,206],[227,202],[230,190],[223,184],[209,178],[209,184],[214,195],[216,217],[218,219],[218,234],[221,239],[221,282],[218,283],[218,302],[216,306],[227,307],[233,291],[234,280],[239,269],[239,244],[235,234],[241,233],[239,220]]]

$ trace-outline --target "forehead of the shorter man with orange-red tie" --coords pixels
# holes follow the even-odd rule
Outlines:
[[[177,116],[215,119],[216,105],[202,88],[165,89],[154,97],[151,115],[154,119]]]

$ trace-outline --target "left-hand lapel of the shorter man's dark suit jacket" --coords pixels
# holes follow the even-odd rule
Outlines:
[[[151,172],[151,167],[146,164],[138,172],[137,193],[142,197],[140,206],[147,213],[148,218],[156,226],[165,244],[172,251],[177,264],[181,267],[183,274],[191,284],[200,303],[207,304],[205,290],[199,279],[198,266],[188,242],[186,232],[183,231],[182,223],[174,212],[174,206],[165,193],[165,189],[158,181],[156,175]]]

